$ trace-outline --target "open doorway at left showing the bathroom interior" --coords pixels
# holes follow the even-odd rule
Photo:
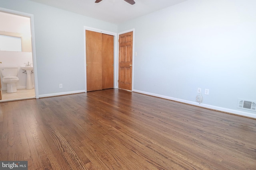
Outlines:
[[[18,82],[16,83],[17,92],[7,93],[7,84],[3,83],[2,73],[0,73],[2,85],[2,100],[0,100],[0,102],[38,98],[38,91],[36,90],[37,79],[35,80],[35,78],[37,77],[35,62],[36,58],[34,56],[35,49],[33,48],[34,45],[32,45],[34,43],[34,41],[32,41],[32,37],[34,36],[34,28],[32,29],[31,27],[31,24],[33,23],[33,18],[31,17],[33,16],[31,16],[30,14],[0,8],[0,22],[3,23],[0,25],[0,35],[2,35],[4,38],[20,38],[22,47],[19,51],[13,47],[3,47],[2,45],[1,48],[0,46],[0,68],[17,67],[17,77],[19,78]],[[8,46],[9,40],[0,40],[0,45],[1,41],[4,42],[4,46]],[[29,74],[27,73],[29,73],[30,71],[24,70],[24,68],[21,68],[21,66],[33,67],[33,70],[30,74],[30,82],[32,83],[32,87],[27,86],[27,84],[29,84],[27,82],[27,80],[29,80]]]

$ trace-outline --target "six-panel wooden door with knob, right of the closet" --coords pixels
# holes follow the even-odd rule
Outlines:
[[[118,87],[132,90],[132,37],[133,32],[119,35]]]

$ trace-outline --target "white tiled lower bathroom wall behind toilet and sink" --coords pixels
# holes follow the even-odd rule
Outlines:
[[[20,66],[25,66],[24,63],[32,64],[32,53],[29,52],[14,52],[14,51],[0,51],[0,67],[18,67],[18,78],[19,81],[16,83],[17,89],[26,88],[26,73],[20,68]],[[2,82],[1,74],[1,82]],[[31,74],[32,84],[34,86],[34,74]],[[6,84],[2,82],[2,90],[6,90]]]

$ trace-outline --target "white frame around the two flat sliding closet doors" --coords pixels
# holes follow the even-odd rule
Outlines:
[[[98,32],[98,33],[104,33],[104,34],[108,34],[108,35],[113,35],[114,36],[114,88],[118,88],[116,86],[116,82],[118,80],[118,67],[116,67],[118,65],[118,55],[117,55],[117,46],[118,46],[118,36],[117,33],[114,32],[110,32],[110,31],[105,31],[102,29],[96,29],[96,28],[92,28],[92,27],[86,27],[84,26],[84,74],[85,74],[85,92],[87,92],[87,81],[86,81],[86,34],[85,31],[94,31],[94,32]],[[117,68],[117,69],[116,69]]]

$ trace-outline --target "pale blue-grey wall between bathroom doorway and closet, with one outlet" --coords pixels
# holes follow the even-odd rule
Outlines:
[[[29,0],[0,0],[0,7],[34,15],[39,97],[85,90],[84,26],[117,32],[112,23]]]

